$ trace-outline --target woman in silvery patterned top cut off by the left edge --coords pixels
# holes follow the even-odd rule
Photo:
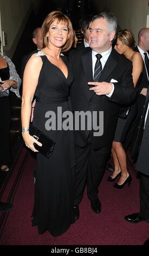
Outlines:
[[[1,38],[0,38],[1,48]],[[11,150],[9,131],[11,124],[10,91],[20,97],[21,78],[18,76],[14,63],[7,56],[0,54],[0,166],[4,172],[9,171]]]

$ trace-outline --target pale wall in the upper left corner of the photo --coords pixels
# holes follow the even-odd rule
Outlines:
[[[0,0],[2,31],[7,33],[8,45],[3,51],[12,57],[18,40],[23,32],[31,9],[35,13],[41,0]]]

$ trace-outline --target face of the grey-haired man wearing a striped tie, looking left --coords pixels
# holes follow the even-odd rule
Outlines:
[[[92,50],[101,53],[111,47],[115,32],[109,33],[106,19],[94,20],[89,27],[89,31],[89,46]]]

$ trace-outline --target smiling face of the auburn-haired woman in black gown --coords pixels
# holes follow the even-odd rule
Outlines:
[[[55,20],[51,23],[47,36],[49,38],[49,44],[61,48],[67,41],[68,27],[65,23]]]

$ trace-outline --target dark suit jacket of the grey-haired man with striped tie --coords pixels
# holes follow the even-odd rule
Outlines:
[[[89,47],[82,52],[70,52],[69,61],[74,73],[74,82],[70,88],[73,111],[103,111],[104,115],[103,135],[94,137],[93,131],[75,131],[75,144],[85,147],[90,133],[94,149],[105,147],[113,141],[119,104],[129,104],[136,96],[132,80],[132,62],[112,50],[99,80],[108,83],[112,79],[118,81],[113,83],[114,92],[109,98],[106,95],[98,96],[89,90],[88,82],[93,81],[92,50]]]

